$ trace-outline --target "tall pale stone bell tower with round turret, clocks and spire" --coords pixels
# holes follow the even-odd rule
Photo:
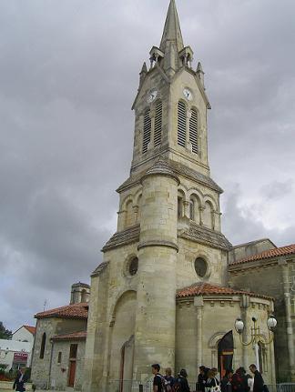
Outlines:
[[[117,188],[117,232],[91,276],[84,390],[145,381],[150,365],[177,363],[177,290],[223,284],[229,241],[221,233],[221,188],[209,173],[204,72],[193,68],[175,0],[159,46],[142,65],[132,106],[134,149]]]

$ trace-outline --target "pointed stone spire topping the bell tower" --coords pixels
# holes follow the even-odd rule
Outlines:
[[[160,49],[165,52],[168,43],[175,42],[178,52],[183,49],[183,40],[179,25],[178,11],[175,5],[175,0],[170,0],[168,14],[164,26],[164,31],[161,39]]]

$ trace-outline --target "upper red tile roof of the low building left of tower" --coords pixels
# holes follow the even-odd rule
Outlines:
[[[40,312],[35,315],[36,318],[46,317],[64,317],[64,318],[81,318],[88,317],[88,304],[86,302],[79,304],[71,304],[66,307],[56,307],[45,312]]]

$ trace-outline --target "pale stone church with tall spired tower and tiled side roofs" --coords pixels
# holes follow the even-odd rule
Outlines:
[[[204,72],[200,63],[193,67],[174,0],[149,58],[132,106],[133,157],[117,188],[117,232],[91,276],[84,370],[73,385],[111,392],[118,381],[118,390],[127,392],[130,384],[120,382],[146,382],[153,363],[175,374],[185,367],[194,382],[201,365],[222,372],[248,368],[256,357],[268,384],[295,381],[295,246],[278,248],[269,239],[232,246],[222,234],[222,189],[209,169]],[[275,342],[267,326],[272,313]],[[46,317],[37,315],[40,326]],[[238,317],[245,325],[241,336]],[[252,344],[240,341],[250,342],[252,317],[259,326],[256,356]],[[52,366],[65,334],[78,332],[69,329],[55,330]]]

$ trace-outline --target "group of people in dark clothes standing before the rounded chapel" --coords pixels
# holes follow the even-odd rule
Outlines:
[[[249,366],[251,377],[244,367],[239,367],[236,372],[226,370],[220,379],[216,367],[199,367],[196,391],[198,392],[269,392],[256,365]],[[190,392],[188,386],[188,373],[181,369],[178,377],[172,376],[170,367],[165,369],[165,376],[160,374],[160,366],[152,365],[153,392]]]

